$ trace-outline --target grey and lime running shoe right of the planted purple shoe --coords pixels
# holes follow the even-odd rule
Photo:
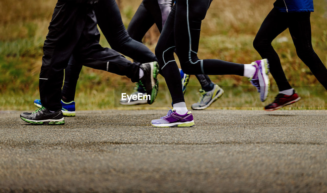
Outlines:
[[[191,108],[194,110],[202,110],[208,108],[213,102],[215,102],[221,95],[224,94],[224,90],[218,85],[215,85],[214,88],[210,91],[205,91],[202,88],[199,89],[200,98],[198,103],[194,103]]]

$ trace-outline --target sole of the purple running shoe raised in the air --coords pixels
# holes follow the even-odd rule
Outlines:
[[[264,85],[260,84],[260,99],[262,102],[267,100],[269,90],[270,90],[270,81],[269,81],[269,63],[267,59],[261,60],[264,64],[261,63],[261,72],[258,74],[259,84],[264,83]],[[264,89],[261,89],[263,88]]]

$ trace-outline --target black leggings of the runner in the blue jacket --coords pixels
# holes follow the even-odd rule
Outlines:
[[[271,42],[287,28],[292,36],[297,55],[327,89],[327,69],[312,48],[310,12],[287,13],[273,8],[261,24],[253,46],[262,58],[268,59],[270,72],[278,89],[282,91],[292,87],[285,77],[281,61],[271,46]]]

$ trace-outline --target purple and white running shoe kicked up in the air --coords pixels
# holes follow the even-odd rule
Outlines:
[[[256,68],[256,71],[249,80],[251,84],[257,88],[258,92],[260,92],[261,101],[265,102],[270,89],[268,60],[257,60],[251,64]]]

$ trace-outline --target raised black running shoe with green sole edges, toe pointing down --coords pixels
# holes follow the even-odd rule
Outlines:
[[[140,68],[143,70],[144,75],[140,79],[139,85],[142,86],[146,90],[146,93],[150,95],[150,99],[147,100],[147,103],[151,105],[158,94],[159,80],[157,79],[157,76],[159,73],[159,65],[158,62],[149,62],[141,64]]]

